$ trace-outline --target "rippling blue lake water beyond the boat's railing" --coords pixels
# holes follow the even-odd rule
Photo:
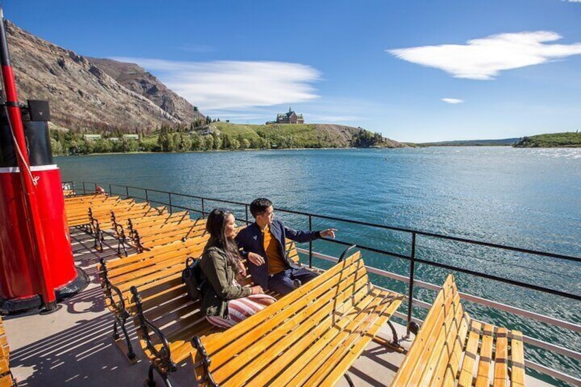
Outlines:
[[[249,203],[269,197],[275,208],[310,212],[502,245],[581,256],[581,149],[431,147],[90,155],[56,158],[64,181],[121,184]],[[119,188],[112,187],[112,190]],[[119,193],[125,193],[120,190]],[[132,195],[142,195],[136,192]],[[151,197],[150,197],[151,199]],[[165,198],[166,199],[166,198]],[[160,198],[161,200],[161,198]],[[200,208],[194,199],[174,204]],[[206,202],[206,210],[219,203]],[[239,218],[244,208],[234,206]],[[278,213],[290,226],[308,227],[305,216]],[[314,229],[336,227],[338,238],[410,254],[410,234],[338,221],[313,220]],[[344,247],[316,242],[325,253]],[[581,294],[581,264],[493,251],[418,237],[417,257]],[[408,275],[404,260],[368,253],[373,266]],[[314,262],[315,264],[324,263]],[[447,271],[418,265],[419,279],[441,284]],[[374,282],[401,292],[406,286]],[[457,275],[460,290],[581,323],[581,303],[515,286]],[[491,284],[494,284],[493,286]],[[433,292],[415,297],[430,301]],[[478,305],[475,316],[508,323],[525,334],[579,350],[581,338],[566,329],[515,319]],[[403,311],[403,310],[402,310]],[[418,311],[421,316],[421,311]],[[541,351],[527,355],[581,376],[581,364]]]

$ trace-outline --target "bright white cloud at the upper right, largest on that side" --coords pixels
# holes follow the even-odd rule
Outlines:
[[[439,45],[386,50],[397,58],[440,68],[457,78],[494,79],[500,71],[532,66],[581,54],[581,43],[546,44],[561,36],[550,31],[497,34],[466,45]]]

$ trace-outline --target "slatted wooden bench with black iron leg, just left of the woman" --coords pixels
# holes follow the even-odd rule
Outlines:
[[[103,295],[107,308],[114,315],[113,339],[121,350],[126,353],[129,361],[134,362],[134,353],[131,340],[127,334],[125,323],[132,312],[131,293],[132,286],[143,288],[158,281],[181,282],[182,271],[188,256],[198,257],[208,238],[200,236],[184,242],[176,241],[168,245],[156,247],[149,251],[128,255],[114,260],[101,258],[97,265],[97,273],[103,288]],[[119,337],[118,328],[123,332],[125,345]]]

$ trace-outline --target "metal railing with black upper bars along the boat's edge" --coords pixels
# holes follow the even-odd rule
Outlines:
[[[88,192],[94,192],[98,186],[96,183],[92,183],[92,182],[91,183],[89,183],[89,182],[79,183],[79,184],[82,184],[82,186],[79,186],[79,184],[76,184],[75,182],[68,182],[66,184],[71,184],[71,187],[76,188],[77,192],[82,190],[82,192],[84,194],[86,194]],[[120,193],[119,188],[121,188],[121,191],[124,191],[124,192]],[[141,197],[139,195],[134,195],[135,192],[130,192],[130,190],[143,192],[143,197]],[[158,203],[161,205],[167,205],[169,207],[169,212],[173,212],[174,209],[188,210],[190,212],[195,212],[197,214],[200,214],[201,217],[205,217],[206,214],[209,213],[208,208],[207,208],[208,203],[223,203],[225,205],[237,205],[237,206],[244,208],[244,214],[245,214],[244,221],[245,221],[245,223],[247,223],[247,224],[251,223],[251,219],[249,219],[249,203],[242,203],[242,202],[238,202],[238,201],[228,201],[228,200],[223,200],[223,199],[214,199],[214,198],[201,197],[201,196],[196,196],[196,195],[180,194],[180,193],[176,193],[176,192],[169,192],[166,190],[155,190],[155,189],[140,188],[140,187],[134,187],[134,186],[121,186],[121,185],[117,185],[117,184],[108,184],[108,192],[110,195],[125,195],[125,197],[132,197],[132,198],[138,199],[138,200],[145,200],[145,201],[149,201],[150,203]],[[163,201],[159,197],[152,199],[152,194],[155,194],[158,196],[165,195],[166,201]],[[192,208],[190,206],[177,204],[176,200],[175,200],[176,198],[180,198],[182,200],[183,199],[187,199],[187,200],[193,199],[195,201],[199,201],[198,208]],[[415,289],[416,288],[425,288],[425,289],[437,291],[441,288],[440,286],[436,286],[434,284],[430,284],[428,282],[423,282],[419,279],[416,279],[415,272],[416,272],[416,268],[417,268],[418,264],[425,264],[428,266],[434,266],[434,267],[438,267],[440,269],[445,269],[447,271],[455,271],[458,273],[465,273],[467,275],[473,275],[475,277],[480,277],[480,278],[492,280],[495,282],[509,284],[512,286],[518,286],[520,288],[524,288],[524,289],[528,289],[528,290],[536,290],[539,292],[546,293],[547,295],[564,297],[565,299],[569,299],[569,300],[573,300],[573,301],[581,301],[581,295],[573,294],[571,292],[565,292],[563,290],[558,290],[558,289],[554,289],[554,288],[547,288],[545,286],[540,286],[537,284],[529,284],[526,282],[517,281],[515,279],[499,277],[497,275],[491,275],[489,273],[481,273],[479,271],[465,269],[465,268],[462,268],[460,266],[454,266],[452,264],[445,264],[445,263],[441,263],[441,262],[434,262],[431,260],[425,260],[423,258],[419,258],[419,257],[417,257],[417,247],[418,247],[417,237],[423,236],[423,237],[428,237],[428,238],[435,238],[437,240],[461,242],[461,243],[466,243],[466,244],[469,244],[472,246],[488,247],[491,249],[496,249],[499,251],[508,251],[511,253],[525,253],[525,254],[534,255],[536,257],[554,258],[556,260],[563,260],[565,262],[581,263],[581,258],[579,258],[579,257],[574,257],[574,256],[570,256],[570,255],[562,255],[562,254],[557,254],[557,253],[547,253],[545,251],[536,251],[536,250],[532,250],[532,249],[522,249],[519,247],[499,245],[499,244],[495,244],[495,243],[491,243],[491,242],[483,242],[480,240],[458,238],[455,236],[445,236],[445,235],[434,234],[434,233],[430,233],[430,232],[422,232],[422,231],[415,230],[415,229],[405,229],[402,227],[392,227],[392,226],[379,225],[379,224],[368,223],[368,222],[363,222],[363,221],[354,221],[351,219],[343,219],[343,218],[338,218],[338,217],[334,217],[334,216],[311,214],[308,212],[299,212],[299,211],[285,210],[285,209],[280,209],[280,208],[275,208],[275,210],[277,212],[283,212],[286,214],[293,214],[295,216],[305,216],[308,220],[308,229],[310,232],[314,231],[313,230],[313,220],[319,219],[319,220],[324,220],[324,221],[349,223],[351,225],[373,227],[374,229],[383,229],[383,230],[388,230],[391,232],[401,232],[401,233],[408,234],[410,236],[410,241],[411,241],[409,255],[396,253],[394,251],[386,251],[384,249],[378,249],[378,248],[367,246],[367,245],[357,244],[357,247],[359,249],[369,251],[372,253],[378,253],[380,255],[387,255],[388,257],[392,257],[392,258],[398,258],[401,260],[408,261],[408,263],[409,263],[409,269],[408,269],[409,276],[408,277],[406,277],[404,275],[399,275],[396,273],[391,273],[389,271],[384,271],[382,269],[378,269],[378,268],[375,268],[372,266],[367,266],[369,273],[374,273],[376,275],[380,275],[380,276],[385,277],[385,278],[394,279],[397,282],[401,282],[403,284],[408,285],[408,295],[406,296],[406,300],[408,301],[408,303],[407,303],[408,307],[407,307],[406,314],[403,314],[401,312],[395,313],[395,316],[406,321],[406,325],[409,325],[409,323],[412,321],[414,321],[416,323],[421,323],[421,319],[417,319],[415,316],[413,316],[413,310],[415,307],[425,309],[425,308],[430,308],[430,306],[431,306],[430,303],[426,303],[425,301],[421,301],[420,299],[417,299],[414,297]],[[352,241],[347,241],[347,240],[329,239],[329,238],[321,238],[321,239],[325,240],[326,242],[330,242],[330,243],[333,243],[336,245],[347,245],[347,246],[353,245]],[[308,249],[297,248],[297,251],[299,251],[299,253],[304,253],[308,256],[309,266],[312,266],[313,258],[327,260],[330,262],[337,261],[337,258],[334,258],[330,255],[325,255],[323,253],[318,253],[318,252],[313,251],[312,242],[309,242]],[[506,305],[504,303],[499,303],[497,301],[492,301],[489,299],[484,299],[482,297],[477,297],[474,295],[469,295],[469,294],[463,293],[463,292],[460,292],[460,297],[462,299],[467,300],[467,301],[471,301],[473,303],[484,305],[484,306],[487,306],[490,308],[495,308],[496,310],[502,310],[502,311],[508,312],[510,314],[515,314],[516,316],[524,317],[526,319],[532,319],[534,321],[547,323],[547,324],[553,325],[555,327],[569,329],[572,332],[581,333],[581,325],[576,324],[576,323],[571,323],[569,321],[563,321],[563,320],[556,319],[556,318],[551,317],[551,316],[545,316],[543,314],[531,312],[528,310],[523,310],[521,308],[516,308],[514,306]],[[408,328],[408,334],[409,334],[409,328]],[[559,345],[556,345],[552,342],[538,340],[536,338],[532,338],[532,337],[526,336],[526,335],[523,336],[523,340],[524,340],[524,342],[526,342],[529,345],[532,345],[534,347],[546,349],[546,350],[552,351],[554,353],[560,353],[561,355],[565,355],[571,359],[575,359],[578,361],[581,360],[581,352],[579,352],[579,351],[575,351],[573,349],[567,349],[565,347],[561,347]],[[550,375],[552,377],[555,377],[556,379],[560,379],[563,382],[567,382],[567,383],[573,384],[573,385],[581,385],[581,379],[579,379],[573,375],[567,375],[567,374],[562,373],[560,371],[550,369],[549,367],[538,364],[536,362],[532,362],[530,360],[527,360],[526,366],[528,368],[534,369],[535,371],[538,371],[540,373]]]

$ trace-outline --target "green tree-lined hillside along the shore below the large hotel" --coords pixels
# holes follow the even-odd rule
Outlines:
[[[243,149],[407,147],[379,133],[359,127],[332,124],[239,125],[214,121],[189,128],[161,127],[139,141],[125,140],[119,133],[103,133],[87,140],[80,133],[51,130],[55,155],[110,152],[235,151]]]

